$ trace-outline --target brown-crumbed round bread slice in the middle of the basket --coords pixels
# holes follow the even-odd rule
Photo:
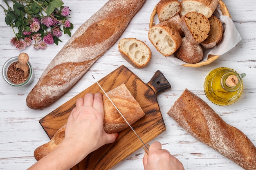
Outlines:
[[[203,42],[210,31],[209,20],[198,12],[189,12],[182,16],[180,27],[191,44]]]

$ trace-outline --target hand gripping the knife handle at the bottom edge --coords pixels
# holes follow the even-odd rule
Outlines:
[[[145,170],[184,170],[182,163],[168,150],[162,150],[160,142],[150,145],[148,154],[143,157]]]

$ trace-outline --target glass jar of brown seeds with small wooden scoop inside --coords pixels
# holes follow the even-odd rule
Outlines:
[[[4,63],[2,77],[11,86],[21,87],[31,84],[34,80],[34,70],[27,53],[20,53]]]

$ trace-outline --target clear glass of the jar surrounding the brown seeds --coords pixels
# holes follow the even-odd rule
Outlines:
[[[15,84],[13,83],[9,78],[8,78],[8,69],[11,66],[11,64],[18,62],[18,56],[16,57],[11,57],[9,60],[7,60],[4,63],[4,66],[2,67],[2,77],[4,78],[4,81],[7,82],[8,84],[10,84],[11,86],[15,86],[15,87],[22,87],[22,86],[27,86],[29,84],[31,84],[35,78],[34,76],[34,70],[30,64],[30,62],[27,62],[27,65],[29,66],[29,75],[26,79],[24,79],[24,82],[22,81],[22,83],[20,84]],[[10,74],[10,73],[9,73]]]

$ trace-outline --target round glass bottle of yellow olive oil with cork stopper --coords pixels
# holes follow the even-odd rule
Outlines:
[[[235,103],[243,91],[245,73],[238,74],[231,68],[212,70],[204,80],[204,93],[214,104],[227,106]]]

